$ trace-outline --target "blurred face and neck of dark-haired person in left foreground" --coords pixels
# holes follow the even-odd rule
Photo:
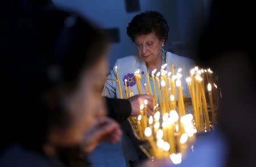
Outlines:
[[[77,88],[67,97],[70,126],[52,133],[54,143],[64,146],[79,144],[85,132],[94,126],[96,118],[105,115],[101,91],[107,68],[104,55],[96,65],[82,72]]]

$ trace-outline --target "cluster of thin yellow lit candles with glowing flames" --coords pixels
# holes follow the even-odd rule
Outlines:
[[[210,68],[207,70],[197,66],[192,68],[190,76],[185,79],[192,104],[192,112],[188,113],[188,105],[184,103],[181,85],[182,69],[179,68],[175,74],[173,64],[171,72],[164,70],[166,66],[167,64],[164,64],[161,67],[162,70],[156,75],[156,69],[151,72],[152,92],[150,74],[147,73],[147,84],[143,85],[144,92],[153,96],[153,115],[148,117],[147,100],[144,100],[139,108],[138,117],[130,117],[129,121],[135,129],[137,138],[148,140],[152,157],[170,157],[174,164],[179,164],[182,154],[195,141],[196,132],[207,132],[216,123],[214,107],[218,104],[218,87],[214,83],[213,71]],[[122,99],[117,67],[115,67],[115,75],[117,76],[119,97]],[[138,93],[142,94],[139,70],[134,72],[134,78]],[[130,91],[130,87],[127,87],[126,82],[125,80],[125,97],[127,99],[133,96],[133,92]],[[156,95],[158,95],[158,99]]]

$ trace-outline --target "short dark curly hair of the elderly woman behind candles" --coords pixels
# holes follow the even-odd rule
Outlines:
[[[134,16],[129,23],[127,35],[135,42],[137,35],[146,35],[155,32],[160,40],[168,40],[169,27],[166,19],[162,14],[157,11],[145,11],[141,14]]]

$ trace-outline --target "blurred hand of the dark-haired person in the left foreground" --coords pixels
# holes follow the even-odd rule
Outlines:
[[[122,131],[119,129],[117,122],[108,117],[99,117],[96,125],[85,134],[83,150],[85,153],[92,152],[103,141],[117,143],[121,139],[121,135]]]

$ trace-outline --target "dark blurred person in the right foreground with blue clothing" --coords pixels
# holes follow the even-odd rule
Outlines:
[[[194,153],[175,166],[255,166],[255,20],[253,2],[213,1],[199,39],[198,63],[218,75],[218,127],[197,138]],[[143,166],[164,165],[167,160]],[[169,162],[171,163],[171,161]]]

